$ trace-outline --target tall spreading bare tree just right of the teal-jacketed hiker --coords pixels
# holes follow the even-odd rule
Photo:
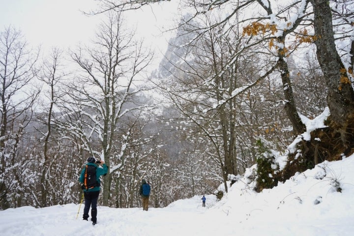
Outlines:
[[[118,132],[125,129],[121,120],[135,110],[149,109],[136,97],[147,89],[138,80],[152,56],[141,42],[134,41],[120,13],[109,15],[108,21],[101,24],[93,47],[80,47],[71,54],[81,75],[69,86],[65,116],[75,114],[80,118],[60,125],[85,144],[89,155],[106,162],[109,172],[103,181],[105,206],[109,205],[112,176],[124,166],[126,142],[132,135],[127,132],[118,137]]]

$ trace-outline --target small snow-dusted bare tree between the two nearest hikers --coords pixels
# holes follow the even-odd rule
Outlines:
[[[147,178],[151,170],[148,157],[157,147],[154,142],[156,134],[150,133],[147,129],[150,123],[147,114],[134,114],[122,122],[127,129],[120,130],[119,134],[127,139],[124,144],[124,155],[112,162],[112,165],[120,165],[121,168],[112,179],[112,188],[114,187],[115,191],[111,196],[116,207],[137,207],[141,204],[139,199],[141,180]]]

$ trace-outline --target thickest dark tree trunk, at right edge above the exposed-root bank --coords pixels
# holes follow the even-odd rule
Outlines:
[[[331,8],[328,0],[310,0],[314,9],[317,59],[328,88],[327,104],[336,132],[348,146],[353,137],[354,91],[334,42]]]

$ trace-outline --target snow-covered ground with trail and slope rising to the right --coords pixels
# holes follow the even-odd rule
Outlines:
[[[333,180],[341,184],[336,192]],[[217,202],[207,195],[165,208],[98,207],[98,222],[78,219],[79,204],[0,211],[3,236],[353,236],[354,155],[324,162],[273,189],[254,193],[240,180]]]

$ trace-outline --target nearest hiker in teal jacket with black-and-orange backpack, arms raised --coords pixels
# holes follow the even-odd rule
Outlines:
[[[80,175],[80,183],[82,183],[85,196],[83,219],[89,219],[89,208],[91,207],[91,221],[92,225],[95,225],[97,223],[97,201],[101,186],[100,176],[107,174],[108,167],[104,161],[96,161],[94,157],[89,157],[87,162]],[[102,167],[96,164],[100,164]]]

